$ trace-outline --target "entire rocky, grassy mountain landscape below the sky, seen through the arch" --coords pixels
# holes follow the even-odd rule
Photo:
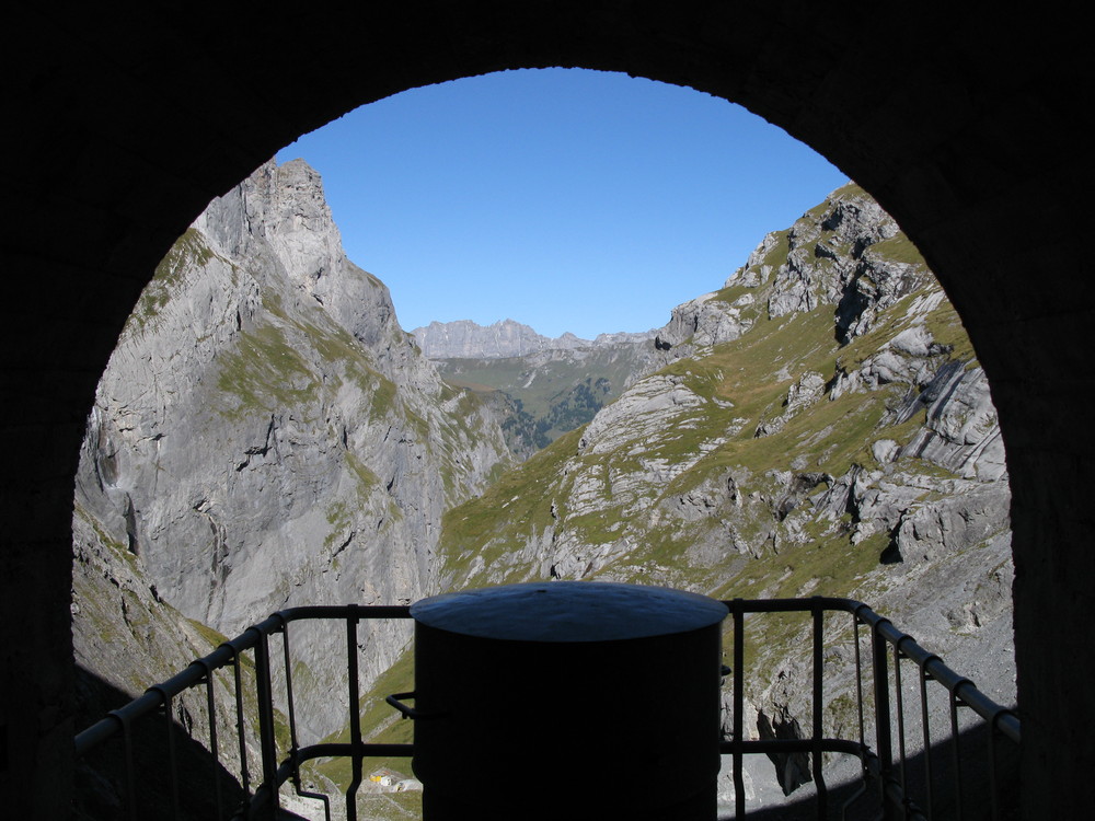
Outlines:
[[[1008,506],[957,314],[853,184],[649,334],[412,335],[346,258],[318,174],[270,162],[180,238],[100,383],[73,514],[82,694],[139,695],[287,606],[558,578],[852,597],[1011,704]],[[370,624],[357,708],[368,736],[404,740],[383,695],[413,689],[411,635]],[[808,628],[748,623],[751,736],[809,725]],[[345,732],[338,641],[293,646],[302,743]],[[854,663],[827,650],[827,735],[851,732]],[[174,707],[197,739],[203,699]],[[775,803],[809,780],[800,760],[754,762],[746,789]],[[367,793],[361,817],[415,800]]]

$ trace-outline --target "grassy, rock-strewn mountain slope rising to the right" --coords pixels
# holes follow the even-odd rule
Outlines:
[[[963,669],[1011,702],[995,412],[957,315],[894,221],[857,187],[835,192],[722,290],[678,308],[656,345],[666,367],[446,514],[445,586],[852,595],[927,647],[960,648]],[[754,733],[809,726],[804,628],[750,625]],[[827,657],[845,682],[827,685],[830,705],[850,697],[850,664],[846,648]],[[827,720],[849,719],[834,708]]]

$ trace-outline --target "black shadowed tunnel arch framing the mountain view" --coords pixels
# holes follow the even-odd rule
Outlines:
[[[8,19],[0,785],[60,817],[71,772],[69,520],[84,416],[158,259],[298,135],[429,82],[581,66],[742,103],[871,190],[954,299],[1014,502],[1025,818],[1079,816],[1095,764],[1084,469],[1092,69],[1042,4],[907,13],[771,0],[422,0],[335,11],[42,7]],[[896,7],[897,4],[895,4]],[[23,791],[18,791],[18,790]]]

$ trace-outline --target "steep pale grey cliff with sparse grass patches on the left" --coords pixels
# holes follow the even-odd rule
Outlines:
[[[180,239],[103,374],[78,575],[120,547],[158,599],[230,635],[293,604],[410,602],[438,590],[442,511],[508,458],[496,419],[440,381],[346,258],[315,172],[269,163]],[[99,622],[78,615],[77,647],[110,677]],[[406,635],[361,640],[368,678]],[[306,690],[342,680],[344,661],[297,655]],[[341,726],[326,702],[309,731]]]

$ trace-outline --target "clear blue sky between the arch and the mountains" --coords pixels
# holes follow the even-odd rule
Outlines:
[[[323,176],[346,253],[400,323],[645,331],[721,288],[848,177],[691,89],[506,71],[362,106],[278,152]]]

